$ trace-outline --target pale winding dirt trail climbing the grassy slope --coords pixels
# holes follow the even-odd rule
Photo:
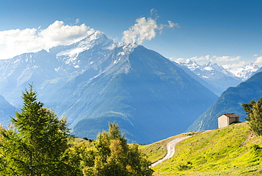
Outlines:
[[[156,165],[158,165],[159,163],[162,163],[164,160],[167,160],[169,158],[171,158],[173,156],[173,154],[175,154],[175,146],[177,143],[179,143],[180,141],[183,141],[187,138],[190,138],[192,136],[185,136],[185,137],[180,137],[180,138],[175,138],[174,140],[170,141],[169,143],[166,144],[166,150],[167,153],[164,156],[164,158],[157,160],[155,163],[152,163],[151,167],[154,167]]]

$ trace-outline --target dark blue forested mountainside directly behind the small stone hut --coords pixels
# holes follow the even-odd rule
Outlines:
[[[217,128],[217,117],[222,114],[234,113],[239,115],[240,121],[245,121],[247,117],[242,107],[243,103],[249,103],[251,100],[258,101],[262,97],[262,72],[256,73],[246,82],[242,82],[237,87],[229,87],[212,104],[204,114],[202,114],[187,131],[203,131]]]

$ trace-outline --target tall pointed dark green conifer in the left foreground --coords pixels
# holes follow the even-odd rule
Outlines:
[[[1,128],[0,173],[4,175],[67,175],[69,148],[66,119],[37,101],[33,85],[23,92],[23,108]],[[2,175],[2,174],[1,174]]]

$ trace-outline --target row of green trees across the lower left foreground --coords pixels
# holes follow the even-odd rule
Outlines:
[[[22,97],[21,112],[0,126],[0,175],[152,175],[149,160],[117,124],[93,142],[72,143],[67,120],[43,107],[32,84]]]

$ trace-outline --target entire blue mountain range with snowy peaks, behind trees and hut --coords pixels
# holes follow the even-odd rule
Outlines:
[[[39,100],[66,116],[75,136],[96,138],[115,121],[137,143],[217,128],[221,114],[236,113],[244,121],[241,104],[258,99],[262,89],[262,70],[254,64],[225,69],[172,62],[142,45],[114,43],[101,31],[72,45],[0,60],[0,69],[4,125],[34,84]]]

